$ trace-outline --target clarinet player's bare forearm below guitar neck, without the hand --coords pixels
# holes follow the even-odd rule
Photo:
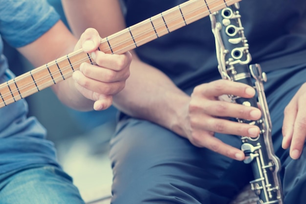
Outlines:
[[[134,59],[130,68],[130,78],[124,90],[114,96],[114,105],[128,115],[155,122],[185,136],[181,127],[190,97],[164,73],[146,63]]]

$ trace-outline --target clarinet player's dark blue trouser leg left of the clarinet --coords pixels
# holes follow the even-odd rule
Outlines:
[[[223,140],[240,147],[239,137],[226,137]],[[119,123],[110,159],[113,204],[226,204],[252,177],[244,163],[197,148],[154,123],[131,118]]]

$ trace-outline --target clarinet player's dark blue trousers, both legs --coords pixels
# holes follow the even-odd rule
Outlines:
[[[306,195],[306,150],[301,159],[292,160],[281,143],[284,107],[303,80],[286,78],[289,75],[282,70],[276,73],[283,77],[268,73],[266,85],[274,149],[283,165],[285,204],[299,204],[306,199],[303,197]],[[296,67],[292,74],[301,76],[306,74],[306,69]],[[239,137],[216,136],[240,148]],[[111,140],[110,159],[114,174],[113,204],[226,204],[252,180],[248,165],[197,148],[154,123],[132,118],[119,122]]]

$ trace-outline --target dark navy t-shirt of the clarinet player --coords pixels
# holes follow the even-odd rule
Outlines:
[[[186,0],[121,0],[127,26],[146,20]],[[242,0],[241,22],[252,63],[263,71],[306,62],[305,0]],[[135,49],[141,60],[167,74],[187,93],[220,79],[209,17],[197,20]]]

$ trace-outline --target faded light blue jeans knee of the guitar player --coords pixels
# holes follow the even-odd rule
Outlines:
[[[72,179],[55,166],[31,166],[0,175],[0,204],[84,204]]]

